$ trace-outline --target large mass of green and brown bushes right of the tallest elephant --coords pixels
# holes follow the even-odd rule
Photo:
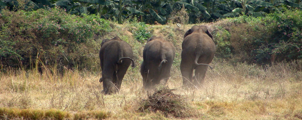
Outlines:
[[[302,58],[302,11],[275,12],[265,17],[228,18],[216,27],[217,57],[237,62],[274,63]],[[230,34],[228,34],[230,33]]]

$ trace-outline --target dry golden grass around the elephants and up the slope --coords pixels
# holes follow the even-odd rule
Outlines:
[[[202,25],[212,30],[215,25],[222,23],[223,21]],[[194,109],[194,117],[185,119],[298,119],[302,114],[302,72],[293,69],[293,66],[301,67],[302,61],[278,63],[265,71],[256,65],[230,65],[214,60],[211,65],[215,69],[207,72],[203,88],[182,88],[179,70],[181,43],[184,30],[191,26],[185,25],[180,29],[175,24],[152,26],[153,35],[163,36],[176,48],[177,54],[168,86],[177,88],[174,92],[185,96]],[[127,32],[136,28],[127,23],[112,23],[112,27],[115,31],[106,34],[100,41],[120,36],[132,46],[136,64],[140,66],[144,44],[135,41]],[[95,66],[99,68],[97,63]],[[147,93],[142,89],[139,67],[127,71],[117,94],[101,94],[102,85],[98,82],[100,77],[101,72],[85,70],[65,70],[59,75],[51,67],[44,69],[43,74],[35,69],[8,70],[8,73],[1,73],[0,76],[0,107],[53,108],[72,115],[100,110],[109,115],[106,119],[180,119],[165,118],[160,112],[135,111]]]

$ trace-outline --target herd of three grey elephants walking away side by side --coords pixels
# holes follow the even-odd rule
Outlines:
[[[200,86],[204,81],[207,67],[213,60],[215,44],[212,34],[205,26],[193,26],[186,31],[182,42],[180,70],[183,85]],[[130,45],[119,37],[105,39],[99,52],[101,61],[103,91],[105,94],[117,92],[130,64],[135,67],[133,51]],[[164,84],[170,77],[172,63],[175,57],[173,44],[162,36],[152,36],[148,39],[143,50],[143,62],[140,73],[143,87],[152,89],[154,85]],[[193,76],[195,70],[195,76]]]

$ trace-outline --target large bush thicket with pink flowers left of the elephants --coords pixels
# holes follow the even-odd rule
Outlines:
[[[98,36],[111,31],[109,22],[96,15],[82,17],[59,8],[37,11],[2,11],[0,15],[2,66],[40,62],[64,66],[90,66],[97,57]],[[62,67],[61,66],[61,67]]]

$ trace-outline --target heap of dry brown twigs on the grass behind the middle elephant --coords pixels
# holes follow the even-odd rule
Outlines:
[[[192,117],[192,111],[186,104],[186,99],[182,95],[174,94],[167,86],[158,86],[152,92],[148,92],[147,99],[140,103],[141,112],[152,111],[162,112],[166,117],[174,116],[177,118]],[[152,94],[151,94],[152,93]]]

